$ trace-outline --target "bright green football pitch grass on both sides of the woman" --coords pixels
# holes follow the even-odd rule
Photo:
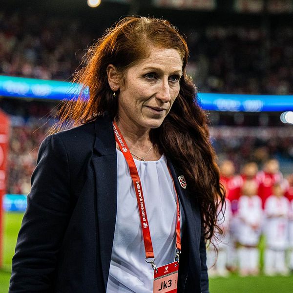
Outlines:
[[[4,214],[3,269],[0,270],[0,293],[7,293],[14,253],[22,213]],[[210,279],[210,293],[293,293],[293,276],[282,277],[239,277]]]

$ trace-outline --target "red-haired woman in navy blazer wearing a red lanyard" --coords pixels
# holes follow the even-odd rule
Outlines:
[[[177,292],[209,292],[223,191],[187,59],[169,22],[144,17],[89,50],[75,78],[89,97],[60,119],[78,127],[40,146],[10,293],[168,292],[169,264]]]

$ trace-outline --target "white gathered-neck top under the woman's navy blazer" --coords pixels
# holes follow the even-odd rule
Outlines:
[[[163,155],[158,161],[134,162],[142,183],[156,265],[163,266],[174,261],[176,246],[176,193],[167,160]],[[117,216],[107,293],[152,293],[154,271],[145,261],[135,190],[119,150],[117,166]]]

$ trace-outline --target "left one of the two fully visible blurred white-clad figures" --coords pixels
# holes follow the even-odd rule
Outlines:
[[[263,221],[261,198],[257,195],[258,185],[254,180],[246,180],[238,201],[238,262],[239,273],[257,275],[259,272],[258,243]]]

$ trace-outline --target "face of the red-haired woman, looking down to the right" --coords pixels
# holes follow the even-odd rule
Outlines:
[[[138,128],[159,127],[179,94],[182,60],[175,49],[151,47],[119,83],[118,120]]]

